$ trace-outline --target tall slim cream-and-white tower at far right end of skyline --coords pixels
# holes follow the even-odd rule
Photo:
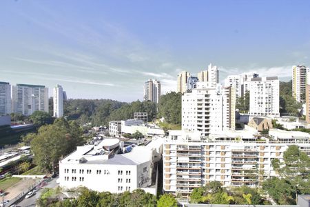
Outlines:
[[[302,103],[304,103],[305,99],[307,72],[309,72],[309,68],[306,66],[293,66],[292,93],[296,101]]]

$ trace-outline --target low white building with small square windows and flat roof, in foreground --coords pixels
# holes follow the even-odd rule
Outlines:
[[[156,187],[150,186],[154,185],[154,161],[161,156],[163,140],[152,142],[149,146],[136,146],[131,152],[123,154],[118,154],[122,148],[118,139],[104,139],[98,145],[79,146],[59,161],[60,186],[64,190],[83,186],[110,193],[143,188],[156,195]]]

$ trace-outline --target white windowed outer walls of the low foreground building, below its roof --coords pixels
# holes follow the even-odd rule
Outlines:
[[[122,193],[126,190],[132,191],[149,186],[151,184],[150,167],[149,161],[138,165],[60,163],[59,181],[62,188],[85,186],[99,192]],[[147,172],[143,172],[143,168],[147,168]]]

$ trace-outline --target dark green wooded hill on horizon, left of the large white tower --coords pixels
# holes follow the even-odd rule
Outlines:
[[[52,104],[52,99],[50,99],[51,115]],[[107,126],[109,121],[133,119],[134,112],[147,112],[148,121],[165,117],[169,124],[180,124],[181,95],[176,92],[162,95],[158,105],[151,101],[124,103],[110,99],[69,99],[64,101],[64,116],[68,120],[78,121],[79,124],[92,122],[93,126]]]

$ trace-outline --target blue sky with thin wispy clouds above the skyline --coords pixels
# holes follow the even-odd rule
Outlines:
[[[143,99],[158,79],[209,63],[291,79],[310,66],[310,1],[0,1],[0,81],[56,84],[68,98]]]

